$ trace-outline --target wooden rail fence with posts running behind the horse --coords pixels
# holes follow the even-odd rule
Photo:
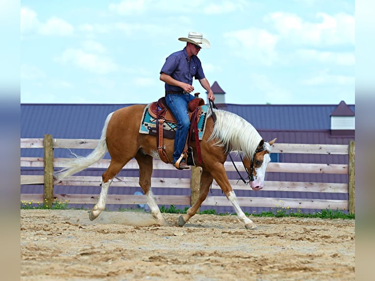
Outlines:
[[[54,194],[53,186],[98,186],[101,177],[70,176],[63,181],[54,181],[54,167],[63,167],[61,158],[53,158],[54,148],[87,148],[94,149],[98,140],[73,140],[73,139],[52,139],[51,135],[45,135],[44,139],[21,139],[21,148],[43,148],[44,158],[21,157],[21,167],[44,167],[44,175],[21,175],[21,185],[44,185],[44,194],[21,194],[21,201],[43,202],[47,201],[51,206],[52,200],[60,202],[69,201],[70,204],[94,204],[98,194]],[[340,209],[355,212],[355,143],[349,145],[332,144],[287,144],[275,143],[272,152],[275,153],[298,153],[298,154],[341,154],[349,155],[349,164],[300,164],[300,163],[269,163],[268,172],[284,173],[329,173],[348,174],[348,183],[308,183],[308,182],[276,182],[266,181],[267,190],[278,191],[302,191],[302,192],[336,192],[349,194],[349,200],[323,200],[323,199],[296,199],[296,198],[265,198],[265,197],[237,197],[241,207],[269,207],[280,206],[291,209]],[[92,168],[107,168],[110,160],[102,159],[93,164]],[[240,171],[244,171],[241,162],[235,162]],[[135,160],[130,161],[123,169],[137,169]],[[227,171],[235,171],[232,163],[225,163]],[[172,165],[164,164],[162,161],[154,160],[154,169],[175,169]],[[181,178],[152,178],[152,187],[173,187],[190,188],[191,196],[186,195],[160,195],[155,196],[159,205],[190,205],[194,202],[199,192],[199,170],[192,169],[191,179]],[[235,189],[251,190],[237,180],[230,180]],[[111,186],[138,187],[138,177],[116,177]],[[198,187],[197,187],[198,186]],[[219,189],[215,181],[213,189]],[[107,204],[146,204],[142,195],[117,195],[109,194]],[[225,196],[208,196],[202,206],[231,206]]]

